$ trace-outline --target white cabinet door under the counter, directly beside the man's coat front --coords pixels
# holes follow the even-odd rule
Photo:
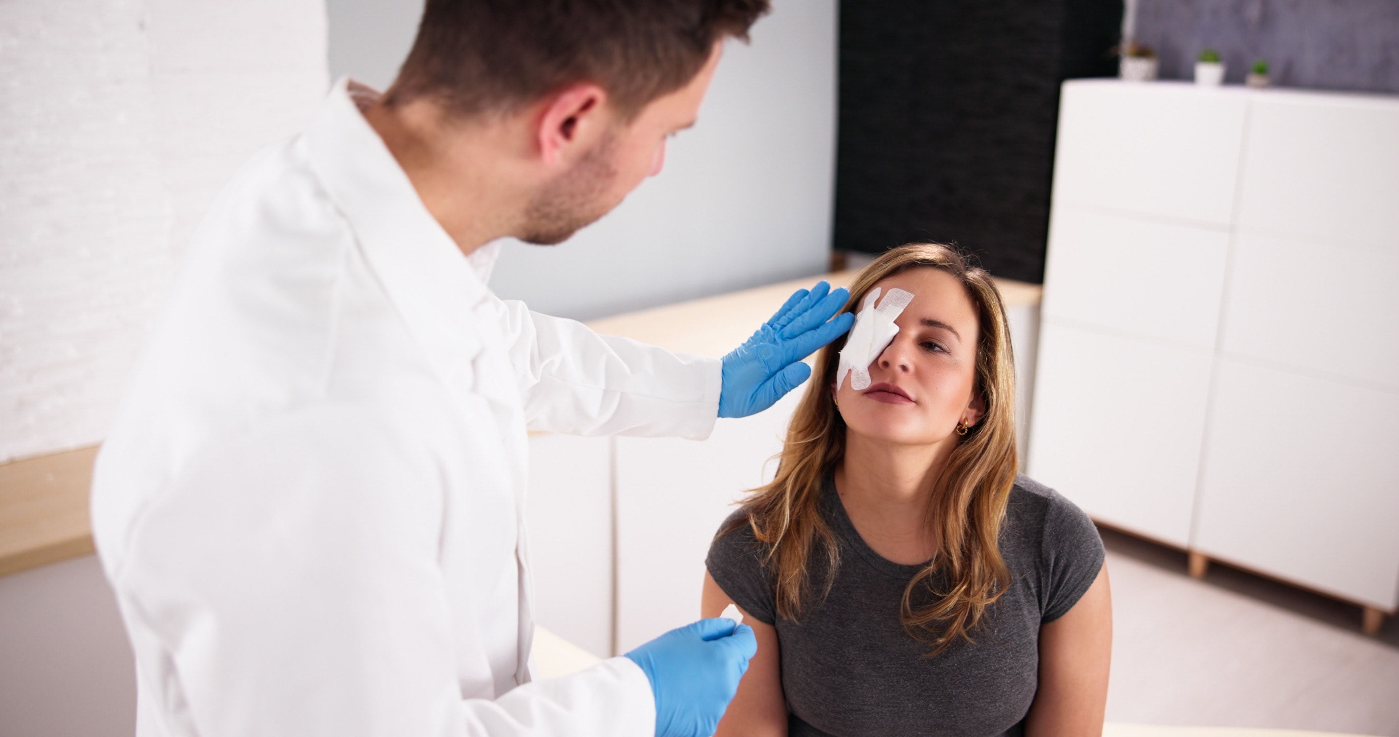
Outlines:
[[[534,618],[611,657],[611,439],[533,435],[526,501]]]

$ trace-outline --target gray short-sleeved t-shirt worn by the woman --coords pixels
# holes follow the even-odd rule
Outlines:
[[[1023,734],[1038,685],[1039,625],[1067,613],[1102,568],[1102,541],[1087,515],[1053,489],[1016,478],[1000,530],[1013,583],[972,631],[975,643],[958,639],[928,657],[929,646],[898,618],[904,587],[921,566],[870,550],[830,475],[821,502],[841,566],[824,600],[825,573],[816,573],[817,594],[800,624],[778,621],[772,575],[747,523],[715,538],[705,561],[734,603],[764,624],[776,622],[789,736]],[[915,597],[914,604],[929,601]]]

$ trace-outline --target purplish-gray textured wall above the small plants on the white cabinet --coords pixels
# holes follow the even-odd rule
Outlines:
[[[1165,80],[1193,78],[1212,48],[1230,84],[1266,59],[1274,85],[1399,92],[1396,0],[1137,0],[1135,31]]]

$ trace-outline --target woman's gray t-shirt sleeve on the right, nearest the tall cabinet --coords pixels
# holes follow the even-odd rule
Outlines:
[[[1052,622],[1067,614],[1097,580],[1104,559],[1102,538],[1088,515],[1051,491],[1041,544],[1044,600],[1039,621]]]

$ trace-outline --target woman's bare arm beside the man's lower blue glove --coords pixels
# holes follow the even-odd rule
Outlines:
[[[701,617],[718,617],[733,604],[729,594],[715,583],[706,571],[704,593],[700,599]],[[743,607],[743,624],[758,636],[758,653],[748,660],[748,670],[739,681],[739,692],[729,710],[719,720],[715,737],[786,737],[786,701],[782,698],[782,670],[778,660],[778,631],[748,617]]]

